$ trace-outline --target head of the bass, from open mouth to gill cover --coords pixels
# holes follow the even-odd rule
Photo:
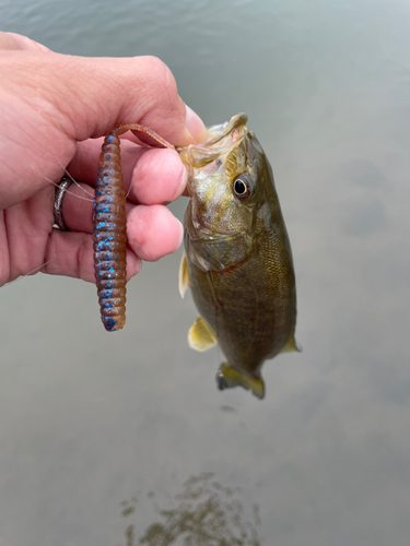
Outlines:
[[[190,197],[186,246],[188,238],[190,258],[203,270],[221,270],[245,258],[256,222],[274,194],[269,163],[246,122],[246,114],[238,114],[209,128],[204,143],[178,150]],[[199,263],[198,253],[206,263]]]

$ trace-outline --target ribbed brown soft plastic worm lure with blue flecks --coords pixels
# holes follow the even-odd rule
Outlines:
[[[104,139],[95,187],[93,248],[101,318],[108,332],[120,330],[126,323],[127,218],[118,136],[127,131],[147,133],[175,150],[155,131],[139,123],[118,126]]]

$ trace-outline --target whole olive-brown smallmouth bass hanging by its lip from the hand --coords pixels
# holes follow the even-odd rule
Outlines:
[[[241,385],[262,399],[262,364],[298,351],[292,251],[262,147],[247,116],[208,129],[210,139],[179,149],[188,173],[185,253],[179,292],[191,289],[199,317],[188,342],[219,343],[222,389]]]

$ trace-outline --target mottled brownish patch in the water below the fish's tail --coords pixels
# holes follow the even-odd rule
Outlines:
[[[213,479],[213,474],[202,473],[189,477],[180,494],[176,495],[176,508],[160,508],[153,501],[159,521],[151,523],[138,537],[134,524],[126,529],[125,546],[260,546],[256,525],[261,524],[259,506],[251,510],[238,499],[239,487],[225,487]],[[153,498],[153,494],[149,494]],[[137,498],[122,503],[125,518],[136,512]],[[251,511],[251,517],[247,512]],[[249,521],[249,520],[253,521]]]

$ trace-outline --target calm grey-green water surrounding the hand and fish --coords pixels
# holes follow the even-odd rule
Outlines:
[[[144,265],[113,335],[92,285],[1,288],[1,546],[409,544],[409,24],[395,0],[0,0],[1,29],[51,49],[161,57],[208,124],[248,114],[304,349],[265,365],[263,402],[216,391],[180,254]]]

